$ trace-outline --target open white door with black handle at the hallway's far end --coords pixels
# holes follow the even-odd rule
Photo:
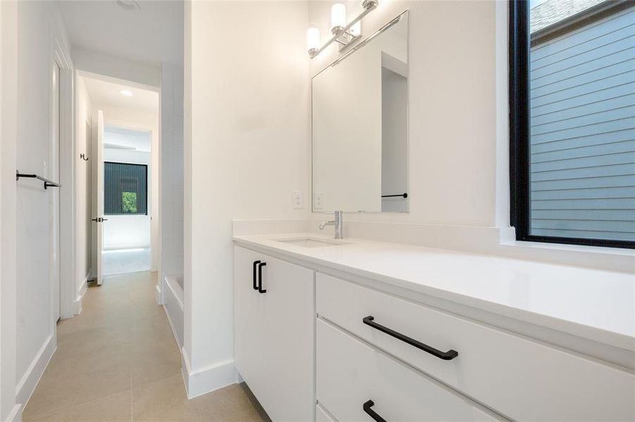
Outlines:
[[[97,284],[101,285],[101,250],[104,245],[104,112],[97,111],[97,122],[93,124],[94,161],[92,163],[92,271]]]

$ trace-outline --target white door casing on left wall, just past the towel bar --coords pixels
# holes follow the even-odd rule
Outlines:
[[[70,52],[65,47],[65,43],[57,35],[51,37],[51,60],[50,72],[53,72],[54,65],[60,68],[59,77],[59,306],[60,319],[70,318],[80,312],[75,306],[76,292],[76,250],[75,241],[75,131],[74,122],[74,80],[73,62],[70,59]],[[53,130],[53,117],[51,115],[51,131]],[[52,133],[52,132],[51,132]],[[64,245],[62,247],[62,245]],[[55,290],[55,289],[51,289]],[[51,293],[51,311],[54,298]],[[53,317],[51,316],[51,320]]]

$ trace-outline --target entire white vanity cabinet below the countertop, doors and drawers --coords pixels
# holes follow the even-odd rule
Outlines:
[[[632,369],[271,254],[235,247],[235,364],[273,421],[635,421]]]

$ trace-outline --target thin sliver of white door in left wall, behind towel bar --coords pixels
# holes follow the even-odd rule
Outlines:
[[[60,68],[57,62],[53,63],[53,93],[51,97],[51,165],[48,174],[44,177],[53,181],[59,181],[59,148],[60,148]],[[51,201],[51,281],[53,283],[53,319],[60,318],[60,255],[59,255],[59,189],[52,188],[49,194]]]

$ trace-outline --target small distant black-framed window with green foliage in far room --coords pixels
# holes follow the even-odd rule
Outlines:
[[[147,215],[148,166],[104,162],[104,214]]]

